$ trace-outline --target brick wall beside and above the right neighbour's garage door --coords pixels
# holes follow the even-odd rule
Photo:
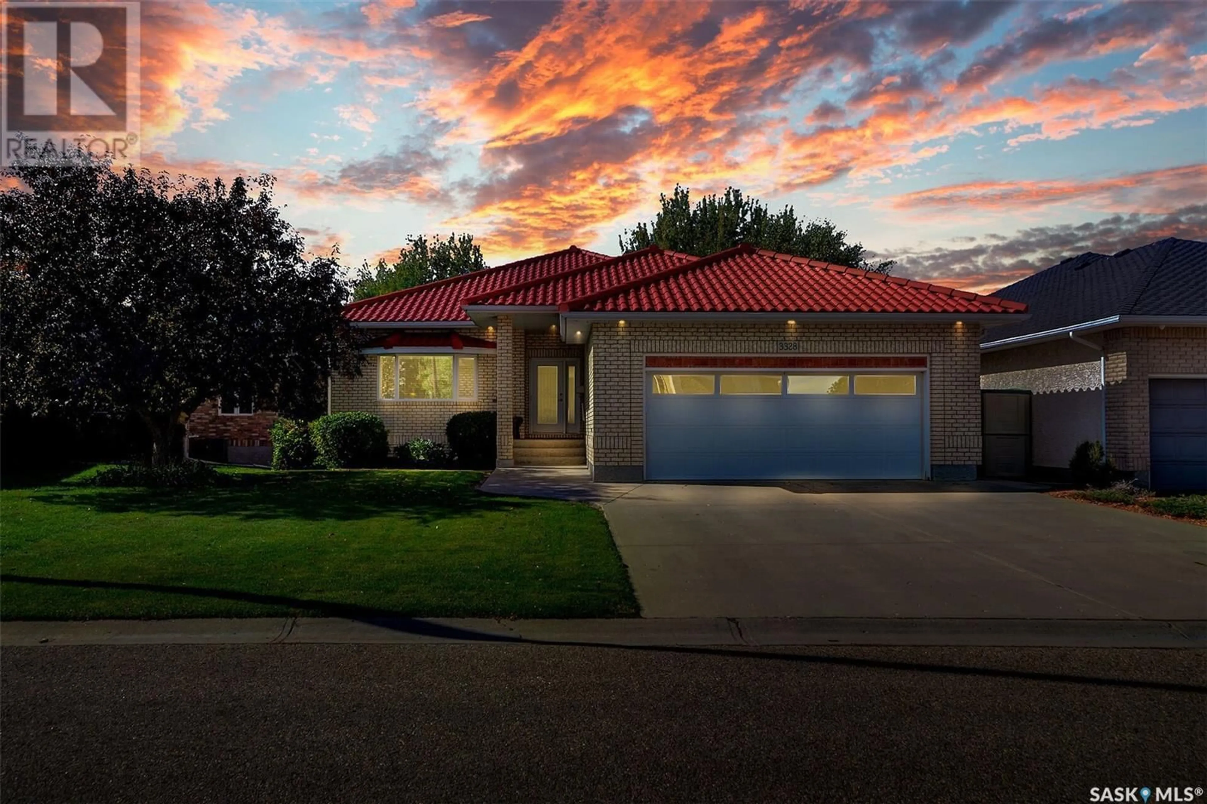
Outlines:
[[[1148,480],[1148,380],[1207,374],[1207,327],[1126,327],[1103,333],[1107,351],[1107,455]]]

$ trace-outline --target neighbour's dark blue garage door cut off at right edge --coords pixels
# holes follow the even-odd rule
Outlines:
[[[1207,379],[1149,380],[1148,406],[1153,488],[1207,489]]]

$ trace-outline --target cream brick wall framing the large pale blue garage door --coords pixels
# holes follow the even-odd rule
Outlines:
[[[926,355],[929,359],[931,464],[981,460],[981,327],[964,324],[596,322],[588,349],[588,461],[645,461],[646,355]],[[799,348],[781,351],[780,342]]]

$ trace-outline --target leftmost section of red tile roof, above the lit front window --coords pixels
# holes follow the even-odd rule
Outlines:
[[[352,302],[344,308],[344,316],[354,322],[465,321],[468,324],[470,316],[461,309],[466,298],[518,282],[583,268],[604,260],[610,260],[610,257],[585,251],[578,246],[570,246],[561,251],[509,262],[497,268],[476,270],[463,276],[454,276]]]

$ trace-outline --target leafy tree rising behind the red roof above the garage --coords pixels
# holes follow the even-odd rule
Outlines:
[[[760,249],[853,266],[887,274],[892,260],[869,262],[862,243],[847,243],[846,232],[828,220],[801,221],[792,206],[772,212],[766,204],[734,187],[723,196],[705,196],[695,204],[687,187],[660,196],[661,210],[649,223],[637,223],[620,235],[623,251],[658,245],[700,257],[748,243]]]

